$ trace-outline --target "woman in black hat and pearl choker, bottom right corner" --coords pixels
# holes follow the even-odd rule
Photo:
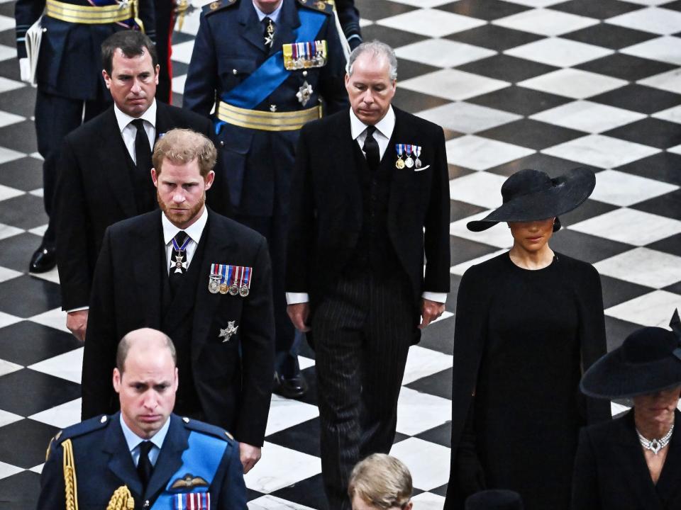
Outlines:
[[[633,332],[582,378],[585,394],[632,399],[633,411],[582,429],[572,510],[681,509],[678,312],[672,328]]]

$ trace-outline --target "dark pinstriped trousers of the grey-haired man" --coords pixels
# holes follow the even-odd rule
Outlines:
[[[409,284],[397,276],[343,278],[314,310],[321,469],[331,510],[350,508],[355,463],[392,446],[414,327]]]

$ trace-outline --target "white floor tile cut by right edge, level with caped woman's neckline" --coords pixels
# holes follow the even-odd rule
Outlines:
[[[681,257],[635,248],[594,264],[598,272],[646,287],[663,288],[681,280]]]

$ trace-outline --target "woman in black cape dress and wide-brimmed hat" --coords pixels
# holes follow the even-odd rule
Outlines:
[[[454,335],[452,462],[445,509],[481,489],[511,489],[526,510],[567,510],[580,426],[609,407],[578,399],[582,367],[606,351],[597,271],[548,246],[558,216],[595,186],[588,169],[556,179],[521,170],[479,232],[507,222],[507,253],[469,268]]]

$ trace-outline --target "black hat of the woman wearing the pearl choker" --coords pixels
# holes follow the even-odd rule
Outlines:
[[[624,399],[681,386],[681,322],[673,331],[644,327],[626,337],[587,370],[580,389],[589,397]]]

